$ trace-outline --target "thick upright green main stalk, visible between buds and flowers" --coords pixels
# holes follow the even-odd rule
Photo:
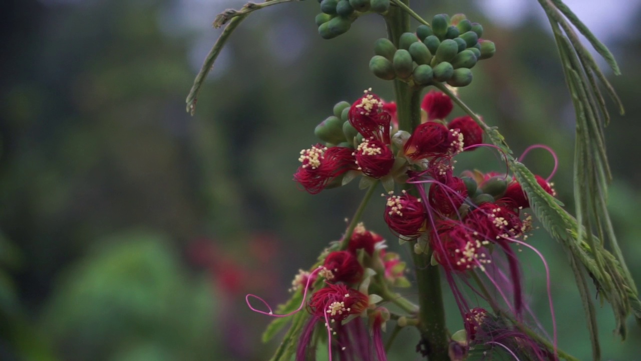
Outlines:
[[[408,4],[409,0],[402,0]],[[387,16],[390,40],[398,46],[402,33],[410,32],[410,16],[401,8],[392,7]],[[420,89],[410,87],[401,80],[394,80],[399,130],[412,133],[420,124]],[[411,245],[411,243],[410,243]],[[419,330],[430,361],[449,361],[448,339],[445,329],[445,311],[438,267],[429,265],[425,254],[415,254],[410,247],[419,287]]]

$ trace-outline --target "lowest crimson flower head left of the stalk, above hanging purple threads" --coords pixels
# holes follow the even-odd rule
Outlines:
[[[343,321],[349,315],[363,312],[368,304],[367,295],[345,285],[329,283],[314,292],[307,304],[307,310],[320,319],[327,316],[332,321]]]

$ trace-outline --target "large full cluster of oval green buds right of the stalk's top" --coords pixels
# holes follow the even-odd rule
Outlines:
[[[492,57],[494,42],[479,40],[483,27],[472,23],[463,14],[452,18],[438,14],[432,26],[421,25],[416,33],[404,33],[397,49],[390,40],[374,44],[374,57],[369,67],[374,75],[385,80],[401,79],[426,86],[447,82],[464,87],[472,82],[472,67],[478,60]]]

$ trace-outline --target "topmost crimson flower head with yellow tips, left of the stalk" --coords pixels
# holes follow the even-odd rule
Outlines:
[[[392,116],[383,109],[383,100],[378,95],[365,91],[349,108],[347,119],[363,137],[374,136],[385,144],[390,143]]]

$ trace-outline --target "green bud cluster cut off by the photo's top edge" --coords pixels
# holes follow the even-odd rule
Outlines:
[[[390,8],[390,0],[319,0],[319,3],[321,13],[316,15],[316,25],[323,39],[347,32],[363,13],[386,13]]]

